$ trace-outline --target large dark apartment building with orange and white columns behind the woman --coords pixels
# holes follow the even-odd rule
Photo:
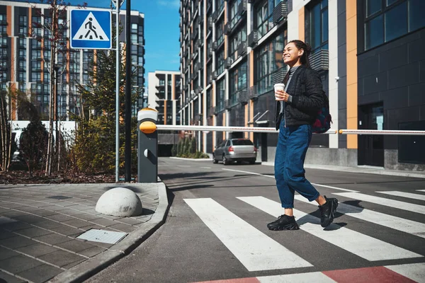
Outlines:
[[[274,127],[273,84],[290,40],[330,100],[333,129],[425,129],[421,0],[181,0],[181,123]],[[249,137],[273,161],[277,134],[197,133],[212,153]],[[425,137],[315,134],[307,163],[425,170]]]

